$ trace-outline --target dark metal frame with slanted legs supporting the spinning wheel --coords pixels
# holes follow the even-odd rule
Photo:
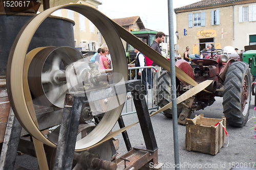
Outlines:
[[[125,141],[126,149],[129,152],[118,159],[114,157],[114,161],[115,163],[117,163],[118,168],[123,167],[124,169],[130,169],[132,167],[134,167],[134,169],[139,169],[143,165],[148,165],[149,162],[158,164],[158,147],[150,119],[150,114],[147,110],[145,98],[140,97],[141,95],[143,95],[143,91],[141,90],[141,82],[139,80],[131,80],[124,82],[124,84],[126,87],[126,92],[131,92],[133,95],[134,104],[141,126],[141,131],[146,145],[146,150],[132,148],[127,132],[124,131],[122,132],[122,135]],[[115,93],[105,95],[114,96],[119,94],[118,90],[120,89],[118,87],[121,86],[123,87],[123,84],[109,85],[108,87],[115,88]],[[91,91],[97,92],[98,90],[102,89],[96,89]],[[104,99],[104,97],[105,96],[96,96],[95,100]],[[79,107],[79,105],[86,102],[88,102],[88,99],[86,93],[84,92],[66,94],[65,107],[63,109],[54,169],[70,169],[72,166],[81,110],[81,107]],[[125,127],[121,116],[118,120],[118,123],[120,128]],[[0,159],[0,162],[3,165],[3,169],[14,168],[16,158],[15,155],[19,144],[21,130],[22,127],[15,118],[12,110],[10,110],[8,125],[5,133],[5,140]],[[133,155],[136,155],[136,159],[130,159],[133,157]]]

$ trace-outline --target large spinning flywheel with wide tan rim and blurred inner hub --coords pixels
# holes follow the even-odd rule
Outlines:
[[[34,104],[63,108],[66,93],[79,90],[80,85],[84,85],[89,79],[94,82],[93,89],[97,88],[96,83],[104,82],[104,75],[102,77],[93,70],[90,63],[72,47],[39,47],[27,52],[31,38],[42,21],[61,8],[76,11],[94,23],[110,49],[113,83],[120,84],[127,80],[127,63],[121,39],[109,19],[99,11],[89,6],[71,4],[50,8],[33,17],[19,32],[12,45],[7,65],[7,90],[11,107],[20,124],[37,140],[51,147],[56,147],[56,143],[40,132]],[[89,79],[88,75],[91,76]],[[87,89],[83,90],[86,92]],[[125,99],[125,88],[117,99],[109,96],[108,108],[103,111],[105,113],[100,123],[76,143],[76,150],[92,147],[112,130]]]

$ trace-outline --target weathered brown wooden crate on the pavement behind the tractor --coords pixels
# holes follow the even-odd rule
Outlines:
[[[216,155],[224,147],[226,135],[221,122],[226,128],[226,118],[206,118],[203,114],[194,119],[186,119],[185,148],[187,151],[196,151]]]

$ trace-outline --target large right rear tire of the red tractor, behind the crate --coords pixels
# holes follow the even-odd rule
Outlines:
[[[234,127],[246,124],[251,101],[251,74],[249,65],[233,62],[227,69],[223,91],[223,113],[227,123]]]

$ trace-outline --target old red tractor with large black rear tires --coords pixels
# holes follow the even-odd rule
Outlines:
[[[178,60],[176,66],[182,69],[197,83],[214,80],[205,90],[197,93],[177,105],[178,123],[185,124],[192,111],[204,109],[215,102],[215,96],[223,97],[223,113],[227,123],[241,127],[247,122],[251,100],[251,74],[249,65],[240,61],[239,55],[223,54],[223,50],[201,51],[209,53],[205,59],[193,59],[196,68],[185,60]],[[176,78],[177,97],[193,86]],[[170,73],[162,71],[158,79],[158,105],[165,106],[170,99]],[[172,117],[172,109],[164,111],[166,117]]]

